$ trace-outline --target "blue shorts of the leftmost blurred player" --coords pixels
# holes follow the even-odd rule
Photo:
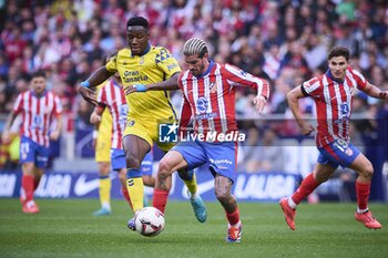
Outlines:
[[[47,168],[49,162],[49,148],[42,146],[31,138],[21,136],[20,140],[20,163],[33,162],[39,168]]]

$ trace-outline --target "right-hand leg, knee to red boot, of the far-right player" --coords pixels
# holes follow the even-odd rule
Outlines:
[[[381,224],[374,217],[374,215],[368,208],[368,198],[370,194],[370,182],[374,175],[374,166],[365,155],[359,154],[349,167],[358,174],[358,177],[356,179],[356,220],[364,224],[364,226],[366,226],[367,228],[381,228]]]

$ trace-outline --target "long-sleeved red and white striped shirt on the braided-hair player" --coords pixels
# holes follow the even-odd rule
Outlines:
[[[235,118],[235,86],[256,89],[268,99],[268,83],[231,64],[210,63],[203,76],[190,71],[181,73],[178,85],[183,92],[180,127],[184,130],[194,121],[195,133],[237,131]]]

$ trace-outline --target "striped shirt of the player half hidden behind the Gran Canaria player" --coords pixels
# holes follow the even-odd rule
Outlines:
[[[112,114],[112,148],[122,148],[129,111],[123,87],[110,80],[99,92],[98,102]]]

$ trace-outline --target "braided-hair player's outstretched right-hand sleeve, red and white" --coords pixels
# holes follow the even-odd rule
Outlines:
[[[257,78],[243,71],[239,68],[236,68],[231,64],[225,64],[223,66],[223,72],[226,75],[226,80],[232,86],[248,86],[257,90],[257,94],[266,97],[269,97],[269,84],[266,80]]]

